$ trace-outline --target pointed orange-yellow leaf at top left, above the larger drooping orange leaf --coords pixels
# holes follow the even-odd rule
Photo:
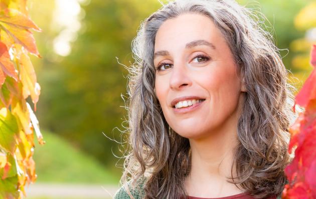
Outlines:
[[[28,18],[26,15],[15,9],[6,9],[0,13],[0,21],[10,25],[16,25],[25,29],[34,29],[36,31],[42,31],[36,24]]]

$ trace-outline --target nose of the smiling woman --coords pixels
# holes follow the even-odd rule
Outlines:
[[[192,84],[190,77],[190,71],[187,69],[184,63],[179,63],[176,65],[174,63],[174,68],[172,69],[172,74],[169,80],[170,88],[179,90],[183,87],[188,87]]]

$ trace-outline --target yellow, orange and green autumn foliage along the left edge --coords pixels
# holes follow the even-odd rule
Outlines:
[[[0,199],[21,198],[36,179],[34,132],[43,144],[36,110],[40,85],[29,53],[40,57],[30,30],[41,31],[28,17],[26,0],[0,2]]]

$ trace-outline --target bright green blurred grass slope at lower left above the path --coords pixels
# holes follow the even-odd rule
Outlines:
[[[120,176],[112,174],[92,156],[53,133],[43,132],[43,136],[45,145],[35,141],[36,182],[118,184]]]

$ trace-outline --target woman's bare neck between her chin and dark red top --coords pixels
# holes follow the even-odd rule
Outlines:
[[[207,137],[190,139],[191,171],[185,182],[189,195],[223,197],[242,192],[227,182],[227,177],[236,177],[237,115],[238,111]]]

